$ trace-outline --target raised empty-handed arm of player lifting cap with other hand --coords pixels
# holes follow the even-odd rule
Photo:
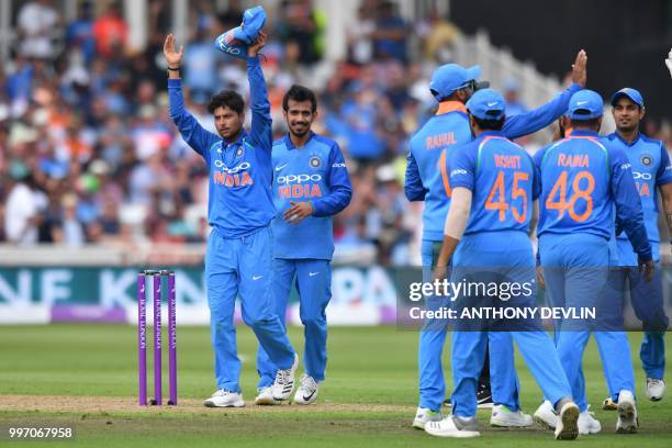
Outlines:
[[[168,63],[168,100],[170,108],[170,119],[177,126],[180,135],[189,146],[199,153],[208,164],[210,164],[210,147],[220,138],[206,131],[201,124],[184,109],[184,98],[182,96],[182,80],[180,78],[180,66],[184,46],[180,45],[180,51],[176,51],[175,36],[168,34],[164,42],[164,56]]]

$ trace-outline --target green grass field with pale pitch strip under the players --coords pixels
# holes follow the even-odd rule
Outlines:
[[[301,332],[290,334],[302,347]],[[411,428],[417,405],[417,333],[394,327],[332,328],[327,381],[314,406],[261,407],[255,396],[256,340],[244,327],[238,347],[244,358],[242,387],[248,406],[206,410],[201,400],[215,389],[206,327],[178,328],[179,393],[177,407],[136,405],[136,333],[121,325],[0,326],[0,445],[10,426],[71,426],[76,437],[48,446],[445,446],[457,440],[433,438]],[[641,334],[630,334],[631,350]],[[670,346],[670,337],[668,338]],[[446,352],[448,355],[448,352]],[[150,370],[150,350],[148,350]],[[446,356],[446,359],[449,359]],[[640,395],[640,433],[616,435],[616,414],[600,408],[606,395],[596,347],[584,357],[590,402],[603,433],[580,437],[580,446],[672,446],[672,399],[651,403],[643,394],[643,373],[635,357]],[[164,361],[167,366],[167,360]],[[448,366],[445,362],[445,366]],[[540,392],[518,359],[524,410],[534,412]],[[167,371],[167,369],[166,369]],[[449,370],[447,370],[449,376]],[[167,376],[164,397],[167,396]],[[148,389],[153,390],[152,379]],[[32,396],[20,396],[32,395]],[[115,399],[116,397],[116,399]],[[489,411],[480,411],[482,437],[460,440],[463,447],[541,447],[558,444],[540,428],[492,429]],[[15,441],[44,446],[44,441]]]

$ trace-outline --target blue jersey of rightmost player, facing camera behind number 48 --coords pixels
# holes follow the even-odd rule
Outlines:
[[[670,156],[661,141],[638,134],[632,143],[627,143],[617,133],[606,139],[621,148],[632,165],[635,186],[641,200],[645,225],[649,243],[653,249],[653,259],[660,259],[660,235],[658,232],[658,188],[672,182]],[[637,266],[637,255],[625,233],[618,235],[618,255],[620,266]]]

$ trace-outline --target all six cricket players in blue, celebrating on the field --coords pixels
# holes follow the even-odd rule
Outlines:
[[[183,105],[179,71],[183,48],[176,49],[172,35],[164,46],[170,116],[210,171],[208,214],[213,229],[205,277],[217,390],[205,400],[209,407],[245,405],[238,383],[236,296],[243,320],[259,340],[255,402],[278,404],[290,397],[299,357],[287,337],[284,314],[293,284],[305,326],[305,374],[293,402],[315,401],[326,368],[332,216],[351,197],[338,145],[311,131],[317,114],[312,91],[294,86],[287,92],[282,105],[289,134],[272,142],[259,61],[267,40],[261,31],[265,20],[262,8],[247,10],[244,24],[216,41],[219,49],[246,60],[249,133],[243,127],[243,98],[234,91],[220,92],[209,103],[216,134],[198,123]],[[411,139],[404,190],[408,200],[425,202],[423,265],[434,270],[427,279],[430,275],[445,278],[448,268],[460,281],[491,276],[494,281],[525,282],[537,273],[553,305],[567,307],[600,302],[604,291],[618,293],[628,281],[647,331],[641,349],[647,395],[660,400],[668,322],[656,267],[657,191],[662,192],[672,227],[672,166],[662,144],[639,133],[643,100],[634,89],[612,97],[618,131],[598,136],[603,102],[584,89],[586,59],[583,51],[578,54],[572,85],[564,92],[537,110],[511,117],[505,116],[502,96],[477,81],[478,66],[439,67],[429,86],[438,111]],[[561,116],[567,127],[563,135],[534,158],[512,142]],[[539,240],[536,259],[533,234]],[[616,295],[609,303],[621,303],[620,294]],[[459,300],[455,303],[463,306]],[[534,306],[534,296],[519,295],[508,305]],[[613,310],[620,305],[607,311]],[[419,336],[421,396],[413,426],[436,436],[479,436],[479,384],[488,371],[491,424],[531,425],[533,417],[520,411],[515,340],[544,393],[534,419],[553,428],[559,439],[600,432],[600,422],[589,413],[581,365],[592,333],[607,379],[605,406],[618,411],[616,430],[637,432],[628,339],[619,325],[623,313],[615,314],[613,322],[607,320],[614,326],[607,328],[556,322],[555,340],[534,320],[516,323],[514,331],[496,325],[456,328],[450,362],[455,389],[447,418],[440,408],[446,396],[441,352],[448,332],[441,321],[427,322]]]

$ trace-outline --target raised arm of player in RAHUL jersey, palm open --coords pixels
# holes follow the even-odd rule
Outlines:
[[[572,85],[540,108],[507,117],[502,132],[507,138],[518,138],[551,124],[567,112],[572,94],[585,87],[587,56],[582,49],[572,65]]]

